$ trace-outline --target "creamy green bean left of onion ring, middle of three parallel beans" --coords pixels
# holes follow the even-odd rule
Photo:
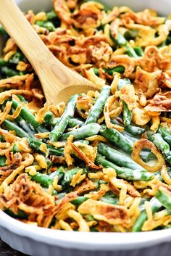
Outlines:
[[[113,162],[116,165],[130,168],[133,170],[134,169],[143,170],[141,165],[138,165],[130,157],[127,157],[125,154],[122,154],[117,150],[112,149],[110,146],[107,146],[102,142],[99,142],[98,144],[98,152],[102,154],[104,157],[106,157],[107,160]]]

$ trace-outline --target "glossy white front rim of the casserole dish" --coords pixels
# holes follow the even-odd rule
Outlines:
[[[130,244],[134,244],[135,248],[148,247],[171,239],[171,228],[138,233],[70,232],[28,225],[10,217],[1,210],[0,220],[0,226],[19,236],[73,249],[92,249],[93,247],[96,249],[114,249],[116,247],[124,249],[124,247],[129,248]]]

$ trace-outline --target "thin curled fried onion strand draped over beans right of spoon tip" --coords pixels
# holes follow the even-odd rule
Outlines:
[[[111,122],[111,117],[117,117],[122,112],[122,106],[117,96],[109,96],[104,104],[104,118],[107,128],[115,128],[117,131],[123,131],[120,125],[114,125]]]

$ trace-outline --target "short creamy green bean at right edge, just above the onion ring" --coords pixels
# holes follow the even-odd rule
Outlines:
[[[162,151],[163,154],[168,154],[170,152],[170,145],[162,139],[162,135],[160,133],[153,133],[149,130],[146,132],[146,135],[148,139]]]

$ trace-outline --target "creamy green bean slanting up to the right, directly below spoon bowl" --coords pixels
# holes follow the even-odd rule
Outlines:
[[[69,118],[73,117],[75,113],[77,99],[78,99],[78,94],[70,97],[70,100],[67,103],[67,107],[64,110],[62,117],[60,117],[59,122],[57,123],[57,125],[54,126],[53,130],[49,135],[49,139],[51,141],[57,141],[59,137],[61,137],[62,134],[64,133],[64,130],[67,128]]]

